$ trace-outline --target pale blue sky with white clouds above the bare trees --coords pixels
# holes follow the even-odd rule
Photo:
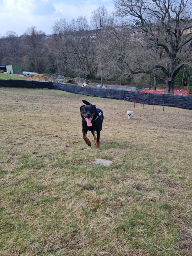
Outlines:
[[[18,36],[27,28],[35,26],[46,34],[52,34],[55,20],[86,16],[89,20],[93,10],[104,6],[112,12],[113,0],[2,0],[0,6],[0,35],[14,31]]]

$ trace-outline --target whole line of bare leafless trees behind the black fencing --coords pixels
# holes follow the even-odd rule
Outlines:
[[[192,78],[191,0],[114,0],[90,21],[80,16],[56,20],[47,36],[36,27],[22,36],[0,37],[0,64],[66,77],[137,83],[173,92]]]

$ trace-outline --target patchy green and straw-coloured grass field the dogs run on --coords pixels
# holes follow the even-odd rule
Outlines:
[[[100,148],[83,99],[104,112]],[[191,152],[191,110],[0,87],[0,255],[192,255]]]

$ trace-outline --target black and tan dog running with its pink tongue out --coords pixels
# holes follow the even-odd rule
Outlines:
[[[103,112],[101,109],[96,108],[95,105],[90,104],[88,101],[82,101],[86,105],[80,107],[82,126],[83,126],[83,139],[88,146],[91,146],[90,140],[87,138],[87,132],[91,131],[94,137],[95,146],[99,148],[100,145],[100,131],[102,130]],[[95,136],[97,132],[97,138]]]

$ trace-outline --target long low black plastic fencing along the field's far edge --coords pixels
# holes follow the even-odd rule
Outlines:
[[[56,82],[37,82],[26,80],[0,80],[0,86],[56,89],[87,96],[127,100],[130,102],[149,105],[152,105],[154,101],[155,105],[162,106],[164,102],[164,106],[178,107],[180,104],[180,108],[192,110],[192,96],[150,94],[125,90],[81,87],[78,85],[60,84]]]

